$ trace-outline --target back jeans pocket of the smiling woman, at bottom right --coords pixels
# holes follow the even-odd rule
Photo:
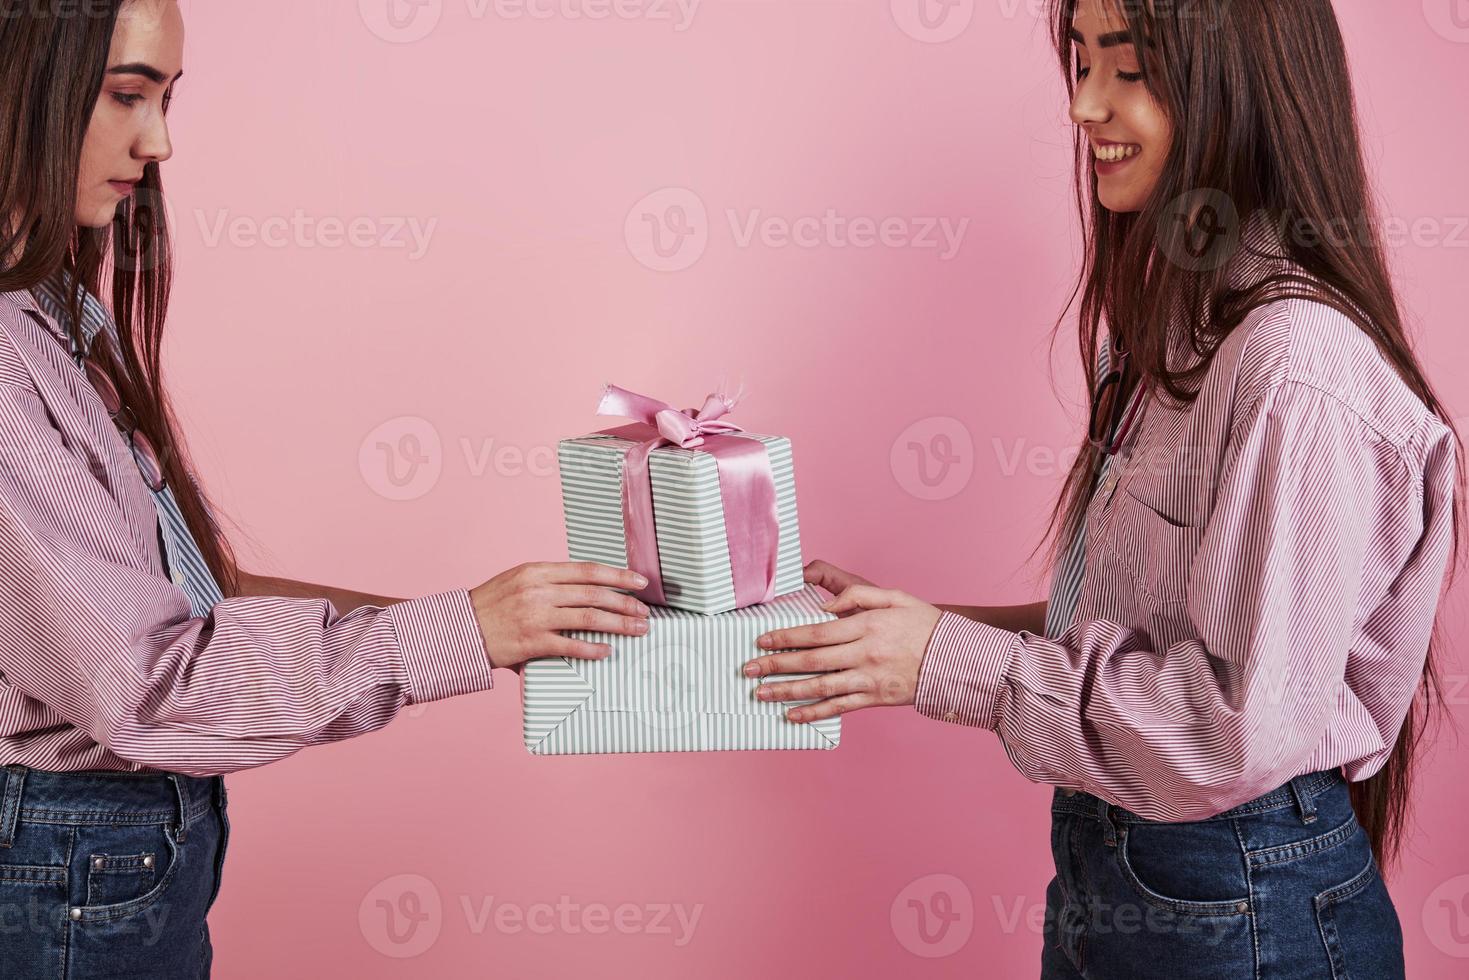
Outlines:
[[[1371,851],[1366,867],[1318,893],[1315,905],[1332,980],[1404,976],[1403,927]]]

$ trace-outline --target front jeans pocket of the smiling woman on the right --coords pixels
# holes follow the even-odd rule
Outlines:
[[[1228,821],[1128,823],[1118,870],[1146,904],[1177,915],[1249,915],[1244,851]]]

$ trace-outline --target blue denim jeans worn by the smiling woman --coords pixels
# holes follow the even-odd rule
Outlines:
[[[1340,770],[1206,820],[1056,789],[1043,980],[1401,980],[1403,930]]]

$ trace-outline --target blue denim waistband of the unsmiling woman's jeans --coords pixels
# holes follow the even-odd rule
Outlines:
[[[21,820],[60,824],[170,823],[182,840],[223,793],[220,776],[181,773],[53,773],[28,765],[0,768],[0,848]]]

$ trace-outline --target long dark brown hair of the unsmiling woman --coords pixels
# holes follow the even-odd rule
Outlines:
[[[163,385],[160,350],[170,251],[163,181],[148,163],[110,228],[78,226],[82,140],[107,68],[118,12],[129,0],[34,3],[0,0],[0,292],[31,289],[65,273],[103,297],[106,282],[120,350],[106,331],[94,350],[138,426],[153,439],[163,475],[226,597],[239,594],[234,551],[192,476]],[[7,256],[21,253],[15,264]],[[81,334],[81,292],[69,303]]]

